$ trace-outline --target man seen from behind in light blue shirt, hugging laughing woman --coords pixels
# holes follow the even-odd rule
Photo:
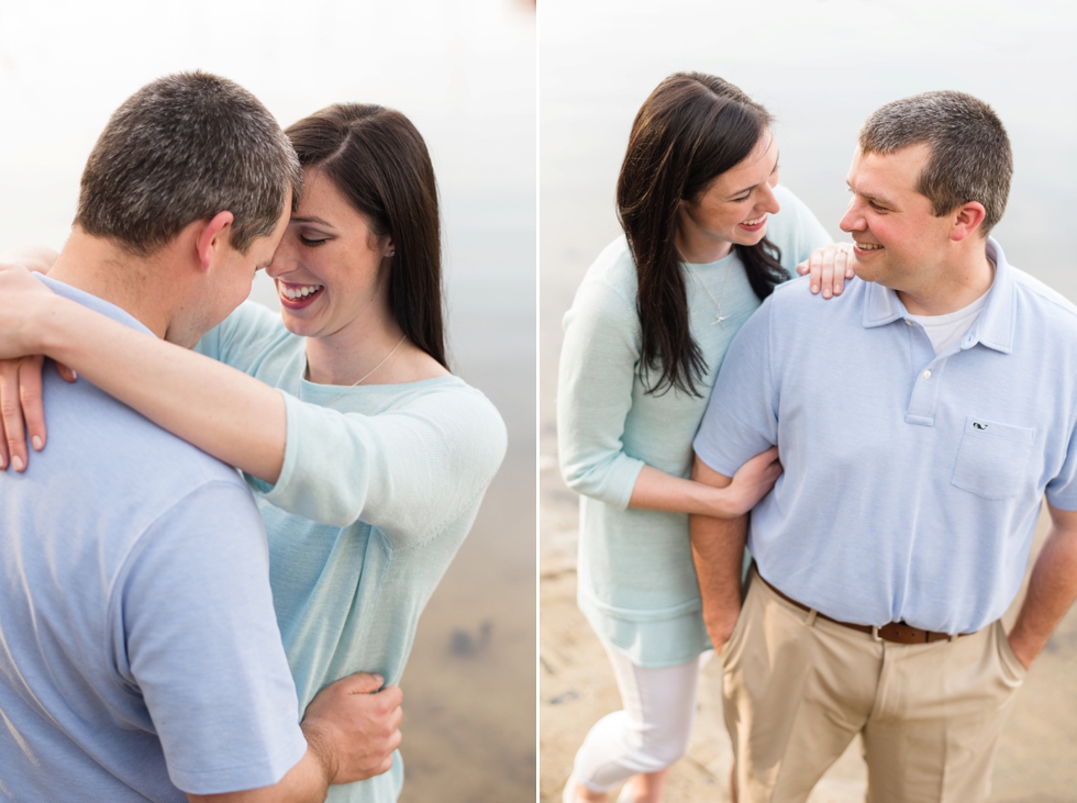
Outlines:
[[[41,280],[191,346],[269,264],[300,181],[249,92],[162,78],[109,121]],[[34,282],[0,275],[16,280]],[[89,382],[44,382],[54,443],[0,471],[0,798],[313,801],[388,769],[400,691],[380,678],[333,683],[297,723],[237,473]]]

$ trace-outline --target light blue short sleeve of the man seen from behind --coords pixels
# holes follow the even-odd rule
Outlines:
[[[266,787],[303,757],[265,532],[238,480],[200,487],[143,534],[110,614],[119,677],[144,698],[176,787]]]

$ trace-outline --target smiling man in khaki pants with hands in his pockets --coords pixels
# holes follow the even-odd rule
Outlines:
[[[1011,174],[986,103],[882,107],[841,222],[862,281],[825,304],[777,288],[722,365],[693,476],[726,484],[773,445],[785,467],[751,526],[691,523],[741,801],[803,801],[857,734],[873,803],[985,800],[1013,696],[1077,595],[1077,308],[988,236]]]

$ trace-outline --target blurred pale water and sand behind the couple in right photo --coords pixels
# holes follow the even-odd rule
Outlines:
[[[781,180],[836,237],[845,171],[864,118],[882,103],[958,89],[993,105],[1014,148],[1009,260],[1077,301],[1077,24],[1062,2],[922,0],[545,0],[540,10],[540,790],[559,801],[588,728],[620,707],[604,654],[576,602],[576,495],[557,469],[560,320],[599,250],[620,234],[613,189],[632,118],[666,75],[726,78],[776,115]],[[1037,535],[1043,536],[1043,522]],[[1012,613],[1011,613],[1012,615]],[[1077,614],[1020,692],[995,772],[998,803],[1077,800]],[[721,666],[703,671],[688,756],[667,800],[728,800],[732,754]],[[854,741],[813,803],[861,803]],[[615,796],[615,795],[614,795]]]

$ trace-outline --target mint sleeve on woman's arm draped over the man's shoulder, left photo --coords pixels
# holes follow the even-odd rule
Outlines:
[[[285,461],[275,486],[256,486],[266,501],[322,524],[363,521],[393,547],[436,536],[486,491],[504,457],[501,416],[463,382],[377,415],[281,394]]]

